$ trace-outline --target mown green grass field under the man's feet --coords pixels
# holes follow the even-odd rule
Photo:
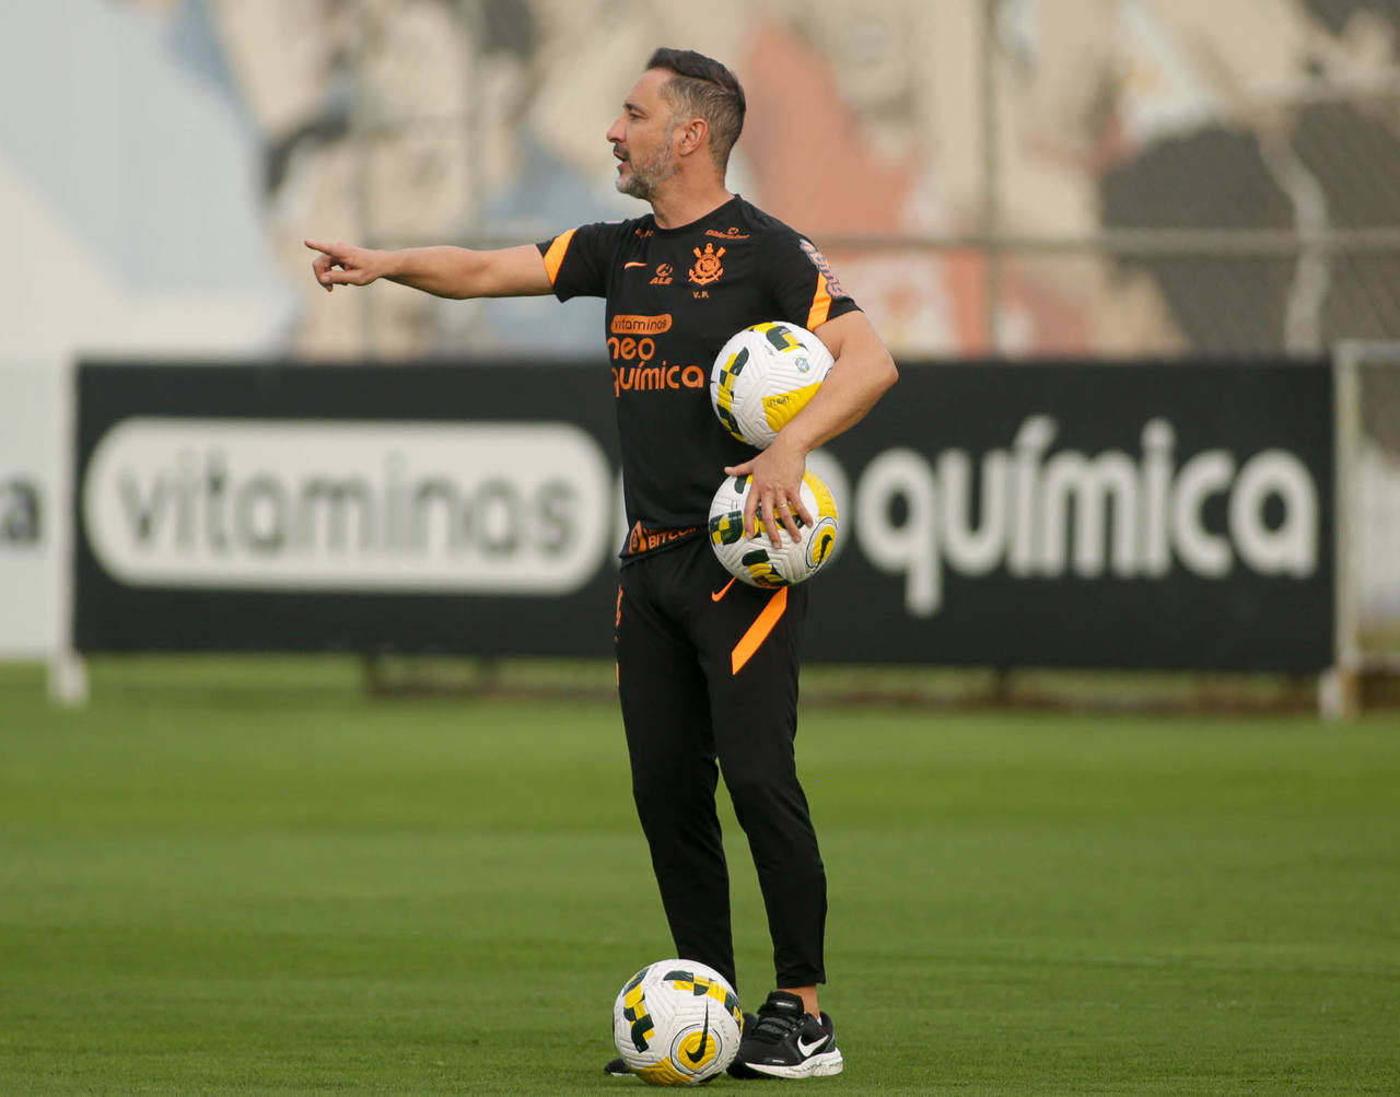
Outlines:
[[[610,701],[365,701],[316,660],[94,688],[0,669],[0,1094],[645,1089],[601,1072],[671,954]],[[1393,715],[809,705],[799,757],[847,1056],[808,1089],[1400,1091]]]

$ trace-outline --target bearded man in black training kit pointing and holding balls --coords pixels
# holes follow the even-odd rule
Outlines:
[[[617,189],[650,203],[650,215],[490,252],[307,245],[326,290],[389,278],[455,298],[606,298],[631,525],[615,644],[637,812],[678,954],[736,986],[714,799],[722,770],[757,868],[778,988],[745,1026],[729,1072],[812,1077],[840,1073],[843,1058],[818,1003],[826,875],[792,747],[808,590],[732,583],[704,533],[721,476],[748,474],[746,533],[762,521],[774,544],[784,530],[795,539],[798,522],[813,521],[799,494],[806,455],[857,423],[896,371],[816,248],[725,189],[743,113],[728,69],[658,49],[606,134]],[[776,319],[815,330],[836,365],[755,453],[722,430],[707,382],[731,334]],[[626,1072],[620,1059],[606,1069]]]

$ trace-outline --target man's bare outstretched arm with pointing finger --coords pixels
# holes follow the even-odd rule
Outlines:
[[[550,292],[549,274],[532,243],[500,250],[403,248],[375,250],[351,243],[304,241],[318,252],[311,263],[326,292],[337,285],[368,285],[379,278],[435,297],[535,297]]]

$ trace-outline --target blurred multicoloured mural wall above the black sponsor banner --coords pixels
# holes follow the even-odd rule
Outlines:
[[[735,69],[731,189],[902,355],[1400,333],[1400,0],[48,0],[0,14],[13,347],[601,351],[601,308],[323,294],[304,236],[507,245],[644,207],[657,45]],[[13,245],[11,245],[13,246]],[[71,302],[83,315],[73,319]]]

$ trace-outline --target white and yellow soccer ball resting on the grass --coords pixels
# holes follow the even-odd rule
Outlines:
[[[714,968],[658,960],[633,975],[613,1003],[613,1042],[652,1086],[699,1086],[739,1049],[739,995]]]

